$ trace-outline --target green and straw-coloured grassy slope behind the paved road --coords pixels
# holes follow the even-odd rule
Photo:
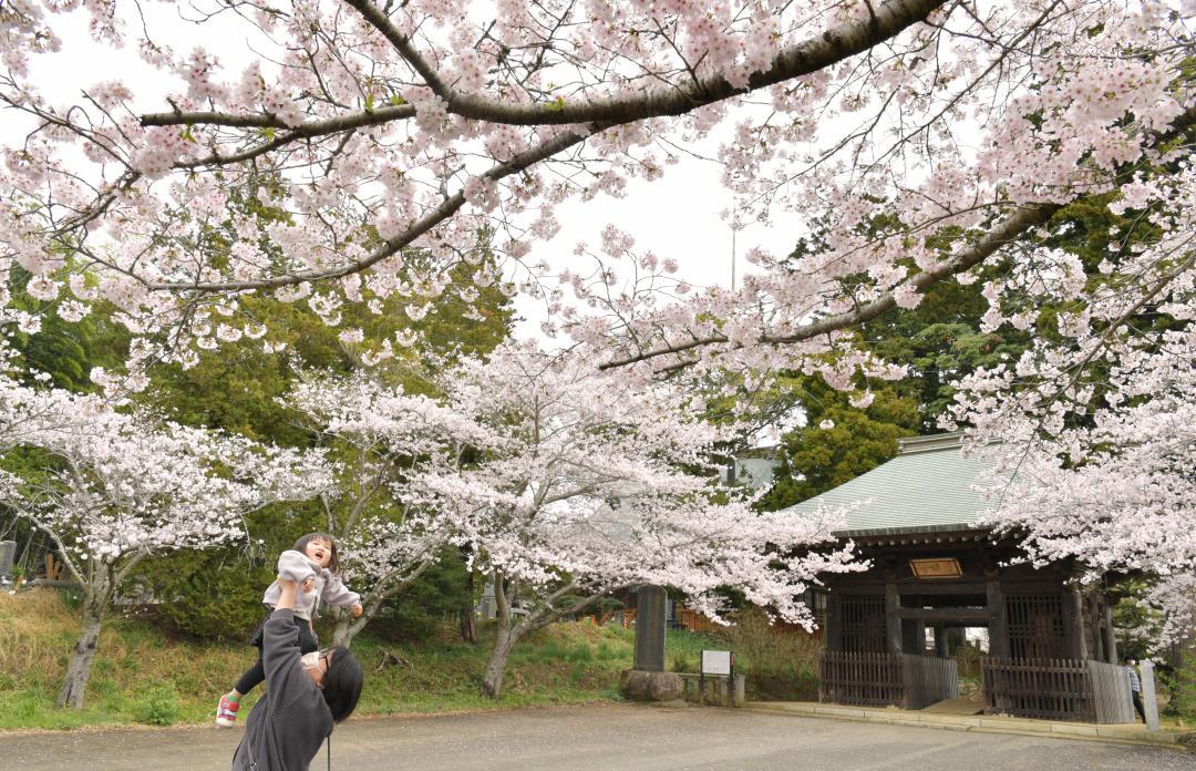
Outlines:
[[[0,594],[0,729],[197,723],[252,662],[248,644],[171,639],[157,627],[115,619],[100,636],[86,709],[55,710],[78,615],[49,590]],[[360,714],[478,710],[618,699],[618,673],[633,661],[633,632],[557,624],[511,656],[501,703],[478,696],[488,645],[446,639],[393,644],[359,638],[366,670]],[[708,638],[670,632],[670,663],[696,662]],[[382,664],[393,654],[402,663]],[[260,693],[260,691],[258,691]],[[245,702],[245,706],[251,699]]]

